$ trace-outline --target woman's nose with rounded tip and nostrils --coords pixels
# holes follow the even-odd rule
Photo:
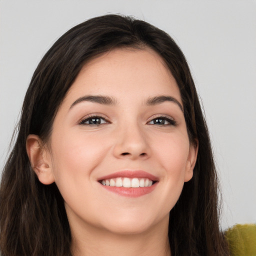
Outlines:
[[[119,127],[115,133],[113,154],[117,158],[146,159],[150,156],[148,139],[139,125]]]

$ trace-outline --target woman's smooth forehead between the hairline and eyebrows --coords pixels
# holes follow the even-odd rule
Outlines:
[[[180,99],[170,70],[159,54],[150,48],[117,48],[89,60],[66,97],[74,99],[75,95],[81,94],[116,97],[171,94]]]

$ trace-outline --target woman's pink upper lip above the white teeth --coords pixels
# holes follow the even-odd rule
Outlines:
[[[117,177],[127,177],[127,178],[148,178],[153,181],[157,181],[158,178],[154,176],[151,173],[148,173],[143,170],[121,170],[121,171],[116,171],[111,174],[107,174],[105,176],[102,176],[98,178],[98,181],[103,180],[103,179],[110,179],[110,178],[117,178]]]

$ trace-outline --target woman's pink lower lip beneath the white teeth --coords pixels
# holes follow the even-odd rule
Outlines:
[[[118,186],[106,186],[102,185],[105,189],[108,191],[111,191],[113,193],[117,193],[122,196],[127,196],[127,197],[139,197],[145,194],[148,194],[154,190],[156,187],[156,184],[158,182],[155,182],[151,186],[145,186],[145,187],[118,187]]]

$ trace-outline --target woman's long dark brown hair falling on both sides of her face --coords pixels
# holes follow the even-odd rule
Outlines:
[[[179,47],[164,31],[132,17],[104,15],[76,25],[44,55],[27,89],[15,145],[0,186],[2,256],[71,255],[70,229],[63,199],[53,183],[43,185],[25,149],[28,134],[42,141],[81,67],[116,47],[150,47],[165,61],[178,84],[191,143],[198,141],[194,174],[185,182],[170,211],[172,255],[227,255],[219,230],[218,182],[209,135],[189,67]]]

